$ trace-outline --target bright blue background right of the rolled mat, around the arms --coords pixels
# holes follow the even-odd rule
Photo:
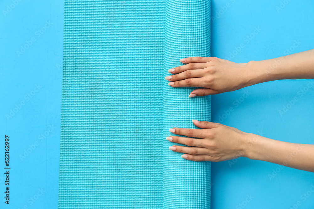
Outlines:
[[[277,12],[280,2],[286,4]],[[229,7],[227,3],[230,3]],[[231,61],[244,63],[280,57],[286,55],[285,50],[293,46],[295,40],[299,40],[300,45],[292,53],[314,48],[314,2],[311,0],[212,0],[211,6],[214,18],[222,10],[221,16],[211,21],[211,56],[225,59],[241,43],[244,47],[234,53]],[[245,38],[255,27],[261,30],[248,42]],[[212,121],[218,121],[219,116],[225,117],[223,124],[245,132],[281,141],[313,144],[314,86],[302,97],[298,94],[309,81],[271,81],[214,95]],[[242,100],[245,91],[248,91],[248,97]],[[294,97],[298,101],[280,115],[279,110],[283,110]],[[241,100],[241,104],[237,100]],[[224,116],[224,111],[230,107],[234,111]],[[276,169],[279,172],[276,173]],[[295,208],[314,208],[314,193],[305,201],[301,198],[311,189],[311,184],[314,185],[314,173],[311,172],[239,158],[234,162],[212,163],[211,174],[211,208],[289,209],[298,201],[301,204]],[[274,177],[270,179],[268,175]]]

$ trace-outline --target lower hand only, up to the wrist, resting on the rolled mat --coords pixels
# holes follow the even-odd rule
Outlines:
[[[174,152],[187,153],[184,154],[187,156],[186,159],[192,161],[218,162],[246,156],[246,144],[250,133],[245,133],[236,128],[219,123],[193,121],[194,125],[204,129],[171,128],[170,132],[197,138],[179,136],[166,138],[171,142],[193,147],[174,145],[169,147],[169,149]],[[184,155],[181,157],[184,157]]]

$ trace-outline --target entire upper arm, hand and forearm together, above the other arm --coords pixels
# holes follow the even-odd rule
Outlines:
[[[269,60],[235,63],[217,57],[188,57],[183,64],[168,70],[172,87],[204,87],[189,97],[235,91],[257,83],[281,79],[314,78],[314,49]]]

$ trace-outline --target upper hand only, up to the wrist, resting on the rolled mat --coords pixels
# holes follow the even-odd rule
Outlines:
[[[247,63],[239,64],[217,57],[189,57],[180,60],[182,65],[168,72],[176,75],[166,76],[165,79],[172,87],[205,87],[196,89],[189,97],[206,96],[226,91],[235,91],[250,86],[252,71]]]

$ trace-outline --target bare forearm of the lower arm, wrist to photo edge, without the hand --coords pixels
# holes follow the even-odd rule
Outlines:
[[[314,172],[312,144],[294,144],[249,134],[244,157]]]

